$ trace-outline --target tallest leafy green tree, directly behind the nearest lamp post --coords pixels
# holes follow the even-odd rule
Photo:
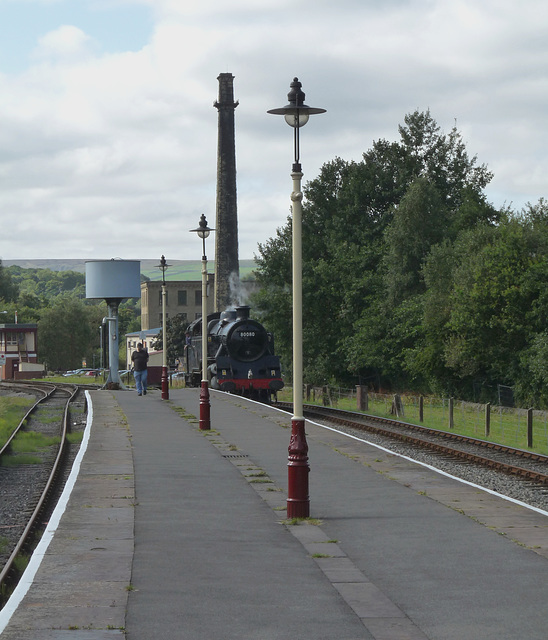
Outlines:
[[[403,383],[405,354],[421,335],[415,297],[424,293],[421,269],[431,248],[496,219],[480,206],[492,176],[469,157],[456,128],[445,135],[428,111],[417,111],[399,133],[397,142],[375,142],[361,162],[325,164],[304,187],[309,382],[388,375]],[[291,221],[259,252],[256,299],[280,352],[290,354]]]

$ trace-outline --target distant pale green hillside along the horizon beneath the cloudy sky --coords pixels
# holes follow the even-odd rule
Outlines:
[[[85,272],[85,260],[2,260],[4,267],[16,265],[23,269],[50,269],[51,271]],[[166,280],[200,280],[202,265],[199,260],[171,260]],[[151,280],[160,280],[158,260],[141,260],[141,273]],[[240,260],[240,278],[249,278],[255,268],[254,260]],[[215,271],[215,264],[208,262],[208,270]]]

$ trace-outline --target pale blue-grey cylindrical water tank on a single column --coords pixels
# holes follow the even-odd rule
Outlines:
[[[86,262],[86,298],[105,300],[108,316],[109,374],[106,384],[121,386],[118,374],[118,307],[126,298],[141,297],[139,260],[89,260]]]

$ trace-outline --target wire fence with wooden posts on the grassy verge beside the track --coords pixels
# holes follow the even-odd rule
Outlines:
[[[312,387],[303,389],[305,401],[350,411],[363,411],[451,431],[469,437],[529,449],[548,455],[548,412],[408,394],[372,393],[364,387]],[[291,387],[278,393],[291,400]]]

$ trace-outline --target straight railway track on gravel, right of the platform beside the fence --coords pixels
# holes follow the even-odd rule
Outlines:
[[[280,409],[292,410],[291,403],[276,403]],[[414,448],[428,449],[436,454],[475,464],[484,468],[527,480],[535,486],[548,487],[548,457],[531,451],[469,438],[419,425],[379,418],[331,407],[305,405],[304,415],[326,424],[342,426],[358,432],[369,432]]]

